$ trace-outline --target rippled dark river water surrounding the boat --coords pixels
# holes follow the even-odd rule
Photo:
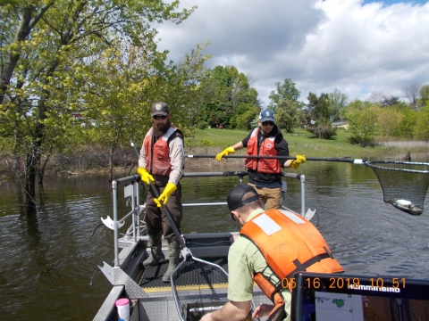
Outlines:
[[[413,161],[429,156],[413,155]],[[383,202],[366,165],[307,161],[299,172],[306,176],[306,210],[316,210],[312,222],[348,274],[429,277],[427,198],[423,214],[413,217]],[[183,202],[225,202],[238,183],[236,177],[184,178]],[[45,184],[33,216],[19,206],[20,186],[0,185],[0,319],[90,320],[112,288],[101,273],[90,285],[97,265],[114,259],[113,231],[99,227],[91,236],[100,217],[113,218],[111,185],[107,177],[46,177]],[[120,217],[130,210],[122,203]],[[300,212],[299,181],[288,181],[284,204]],[[238,226],[226,206],[187,207],[181,231]]]

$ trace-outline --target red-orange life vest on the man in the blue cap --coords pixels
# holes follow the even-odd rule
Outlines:
[[[275,149],[275,136],[266,137],[262,142],[259,153],[257,152],[257,136],[259,128],[255,128],[248,139],[248,151],[247,155],[252,156],[278,156],[277,150]],[[272,173],[280,174],[282,166],[279,160],[273,159],[245,159],[244,166],[247,169],[253,169],[261,173]]]

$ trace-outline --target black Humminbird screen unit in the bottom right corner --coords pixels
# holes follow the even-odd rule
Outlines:
[[[392,276],[298,273],[292,321],[427,320],[429,281]]]

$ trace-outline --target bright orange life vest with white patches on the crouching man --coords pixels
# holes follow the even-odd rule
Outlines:
[[[294,273],[344,272],[315,226],[289,210],[267,210],[258,214],[246,222],[240,235],[255,243],[264,255],[267,268],[280,280],[275,284],[263,273],[255,274],[255,282],[275,305],[270,314],[272,319],[282,317],[284,302],[281,291],[285,284],[290,284],[284,281],[289,281]]]

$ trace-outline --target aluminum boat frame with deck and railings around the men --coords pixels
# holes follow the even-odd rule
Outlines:
[[[247,176],[247,171],[228,171],[228,172],[198,172],[184,173],[182,179],[191,177],[239,177],[240,183],[243,177]],[[310,219],[315,211],[305,211],[305,176],[301,174],[282,173],[282,177],[288,177],[292,180],[299,180],[301,183],[301,215]],[[142,268],[142,261],[150,254],[150,248],[147,247],[148,236],[142,235],[144,226],[140,221],[145,213],[145,204],[140,205],[139,200],[139,175],[123,177],[112,182],[113,192],[113,216],[114,218],[101,218],[105,226],[114,230],[114,266],[103,262],[99,266],[105,277],[113,284],[113,289],[107,295],[101,308],[98,310],[94,321],[115,321],[118,319],[115,307],[115,301],[121,298],[130,299],[130,321],[143,320],[177,320],[180,319],[175,300],[173,298],[171,284],[162,283],[161,277],[167,268],[168,261],[160,264],[157,268]],[[286,192],[286,182],[282,180],[282,193]],[[131,205],[131,210],[123,218],[118,218],[118,191],[123,188],[124,198]],[[226,206],[226,202],[209,203],[184,203],[183,207],[189,206]],[[282,205],[285,210],[290,210]],[[124,225],[126,220],[131,220],[130,227],[126,235],[119,237],[119,228]],[[231,233],[192,233],[183,235],[187,247],[192,255],[199,259],[214,260],[216,264],[223,265],[227,269],[228,251],[231,245],[231,239],[238,232]],[[120,251],[120,249],[122,249]],[[163,239],[163,251],[168,257],[168,243]],[[189,286],[186,288],[189,297],[198,294],[198,287]],[[226,291],[226,285],[225,285]],[[254,285],[253,305],[258,306],[262,303],[270,303],[265,294]],[[189,303],[187,315],[189,320],[199,319],[202,311],[193,309]],[[213,309],[208,308],[207,309]]]

